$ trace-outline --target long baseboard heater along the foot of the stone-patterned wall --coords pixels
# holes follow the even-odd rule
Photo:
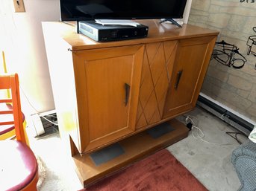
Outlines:
[[[250,132],[252,132],[252,129],[255,127],[255,123],[244,119],[246,117],[239,117],[237,114],[234,114],[231,109],[229,110],[218,105],[217,103],[214,103],[211,99],[209,99],[209,97],[205,96],[205,94],[200,93],[196,104],[246,135],[249,135]]]

